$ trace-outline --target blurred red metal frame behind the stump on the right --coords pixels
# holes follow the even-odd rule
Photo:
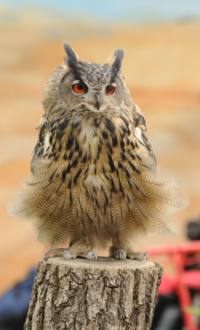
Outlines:
[[[173,262],[176,274],[173,276],[163,275],[158,294],[168,294],[176,291],[182,310],[184,326],[187,330],[199,330],[195,316],[184,311],[185,307],[192,306],[190,288],[200,290],[200,270],[185,270],[185,266],[200,262],[200,240],[148,246],[144,248],[150,255],[167,254]],[[187,254],[194,254],[188,257]]]

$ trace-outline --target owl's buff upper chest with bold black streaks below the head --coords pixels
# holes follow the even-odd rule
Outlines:
[[[63,187],[75,191],[79,187],[80,193],[84,187],[91,194],[114,192],[123,184],[124,175],[131,175],[130,167],[135,166],[131,163],[135,158],[133,141],[133,134],[121,119],[77,120],[67,127],[57,144],[58,160],[52,166],[56,166],[56,173],[65,182]]]

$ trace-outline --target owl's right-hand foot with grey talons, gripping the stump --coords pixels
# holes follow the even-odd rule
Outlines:
[[[148,252],[138,252],[134,250],[127,249],[126,251],[117,249],[115,247],[110,248],[109,257],[115,257],[120,260],[126,260],[126,257],[130,259],[137,259],[137,260],[144,260],[146,258],[146,261],[149,258]]]

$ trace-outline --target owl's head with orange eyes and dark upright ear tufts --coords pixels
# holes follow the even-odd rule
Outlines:
[[[62,107],[68,113],[85,111],[97,115],[120,107],[130,96],[120,73],[122,49],[115,50],[107,64],[95,64],[82,62],[68,43],[64,48],[64,65],[51,76],[44,91],[46,112],[52,112],[52,103],[56,103],[56,108]]]

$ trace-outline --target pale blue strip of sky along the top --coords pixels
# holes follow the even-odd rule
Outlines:
[[[174,21],[200,17],[200,0],[5,0],[16,10],[27,6],[42,6],[66,15],[81,14],[94,19],[120,22]]]

